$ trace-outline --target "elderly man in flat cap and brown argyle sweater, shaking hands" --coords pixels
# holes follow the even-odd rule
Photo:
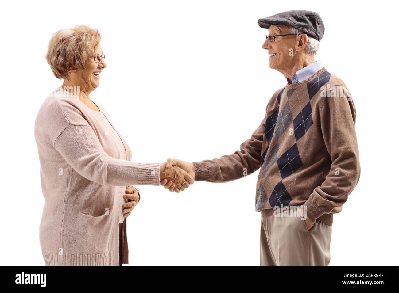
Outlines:
[[[265,118],[239,151],[194,163],[169,159],[167,165],[208,182],[260,168],[260,264],[328,265],[333,214],[360,176],[355,105],[344,82],[314,61],[324,34],[317,13],[287,11],[258,24],[269,29],[262,48],[270,68],[288,83],[273,94]]]

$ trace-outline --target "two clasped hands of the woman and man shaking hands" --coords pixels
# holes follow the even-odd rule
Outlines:
[[[160,166],[160,185],[171,192],[184,191],[194,183],[194,165],[178,159],[168,159]]]

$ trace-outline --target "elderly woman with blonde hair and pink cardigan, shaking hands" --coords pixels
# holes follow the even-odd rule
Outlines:
[[[180,168],[130,161],[131,149],[107,110],[90,98],[107,67],[100,41],[97,29],[79,25],[49,42],[46,59],[63,85],[45,99],[35,122],[46,265],[128,264],[126,216],[140,200],[134,185],[161,181],[180,192],[194,183]]]

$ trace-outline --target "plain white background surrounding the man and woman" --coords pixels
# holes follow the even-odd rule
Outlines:
[[[286,80],[268,66],[259,18],[320,14],[316,60],[348,86],[357,110],[360,181],[334,215],[330,265],[397,264],[396,9],[352,1],[41,1],[2,4],[0,264],[43,265],[44,199],[36,114],[62,84],[45,61],[59,29],[102,34],[107,68],[90,94],[108,110],[133,161],[230,154],[265,117]],[[259,265],[258,171],[229,183],[196,182],[176,194],[138,186],[128,217],[130,265]]]

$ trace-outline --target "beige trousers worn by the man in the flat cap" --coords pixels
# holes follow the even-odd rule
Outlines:
[[[331,226],[316,220],[308,231],[299,216],[262,217],[260,265],[328,265]]]

